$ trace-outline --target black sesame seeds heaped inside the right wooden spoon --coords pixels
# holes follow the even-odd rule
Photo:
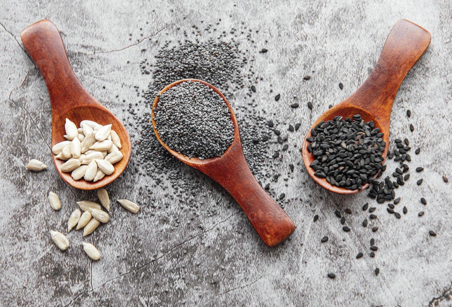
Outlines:
[[[362,189],[383,168],[383,133],[373,121],[364,122],[360,114],[353,119],[338,115],[321,121],[311,130],[311,136],[307,149],[316,159],[311,168],[315,176],[326,178],[332,185]]]

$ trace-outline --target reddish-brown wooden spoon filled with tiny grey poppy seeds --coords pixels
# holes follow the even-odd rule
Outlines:
[[[199,160],[198,158],[189,159],[187,156],[169,148],[160,138],[157,129],[154,128],[157,139],[167,151],[180,161],[201,171],[221,184],[235,198],[243,211],[245,211],[246,216],[250,219],[251,224],[253,224],[254,229],[265,244],[272,247],[278,245],[292,234],[295,225],[287,213],[262,189],[251,173],[250,167],[246,163],[245,156],[243,155],[237,118],[235,118],[234,111],[225,96],[216,87],[196,79],[179,80],[166,86],[160,91],[152,105],[153,127],[155,127],[154,110],[159,103],[160,94],[181,82],[190,80],[207,85],[225,101],[231,111],[231,121],[234,124],[234,140],[231,146],[226,149],[221,157]]]

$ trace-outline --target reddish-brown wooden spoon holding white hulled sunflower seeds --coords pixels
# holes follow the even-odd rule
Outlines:
[[[20,38],[28,54],[41,71],[49,91],[52,104],[52,146],[66,141],[64,124],[66,118],[80,127],[84,119],[92,120],[102,125],[112,124],[112,129],[118,133],[121,140],[122,160],[114,165],[114,172],[99,181],[85,181],[83,178],[74,180],[71,173],[60,171],[60,165],[65,161],[55,159],[56,171],[66,183],[77,189],[99,189],[111,183],[122,174],[130,158],[131,144],[126,128],[102,104],[94,99],[80,84],[67,59],[66,50],[60,33],[50,20],[43,19],[22,30]]]

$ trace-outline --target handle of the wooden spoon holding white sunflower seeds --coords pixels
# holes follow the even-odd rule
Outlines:
[[[28,54],[41,71],[49,91],[52,110],[67,108],[82,102],[90,104],[91,99],[83,99],[86,92],[74,74],[67,59],[60,32],[52,21],[43,19],[22,30],[20,38]]]

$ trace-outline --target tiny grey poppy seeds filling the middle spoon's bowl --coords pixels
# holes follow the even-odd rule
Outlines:
[[[219,157],[234,140],[226,102],[201,82],[182,82],[160,94],[154,114],[162,141],[188,158]]]

